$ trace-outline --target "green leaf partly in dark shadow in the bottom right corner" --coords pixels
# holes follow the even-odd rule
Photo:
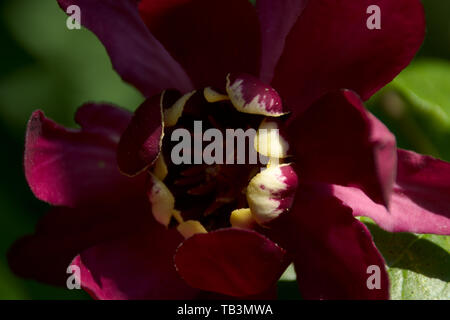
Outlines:
[[[450,237],[390,233],[361,218],[386,260],[394,300],[450,299]]]

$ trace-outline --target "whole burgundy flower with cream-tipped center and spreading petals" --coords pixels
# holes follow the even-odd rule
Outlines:
[[[292,261],[305,298],[386,299],[384,260],[354,216],[450,234],[450,164],[397,151],[360,99],[420,47],[420,1],[59,4],[81,8],[114,68],[148,99],[133,116],[85,105],[78,130],[32,115],[27,181],[59,208],[13,246],[20,275],[64,283],[75,257],[98,299],[270,298]],[[381,30],[366,28],[374,4]],[[284,164],[176,165],[170,133],[195,120],[280,129],[257,150]],[[381,289],[366,285],[371,265]]]

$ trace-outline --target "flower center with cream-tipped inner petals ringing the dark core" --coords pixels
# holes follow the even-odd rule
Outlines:
[[[278,94],[248,75],[229,75],[226,92],[161,99],[164,137],[149,197],[155,218],[185,237],[265,223],[290,206],[296,187],[280,165],[289,145],[270,120],[285,114]]]

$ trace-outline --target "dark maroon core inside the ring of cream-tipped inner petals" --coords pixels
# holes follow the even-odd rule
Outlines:
[[[259,157],[256,163],[250,163],[254,137],[245,133],[256,132],[262,120],[260,115],[238,112],[230,101],[208,102],[199,92],[187,101],[176,125],[165,129],[162,154],[168,174],[164,182],[176,199],[175,207],[184,220],[197,220],[206,230],[215,230],[230,226],[233,210],[248,207],[247,186],[264,163]],[[196,128],[199,124],[201,132]],[[184,148],[180,152],[185,160],[182,163],[173,161],[174,149],[183,143],[172,140],[174,132],[180,129],[188,132],[190,137],[190,143],[186,143],[189,150]],[[205,134],[210,129],[220,132],[216,137],[222,139],[206,141]],[[227,131],[231,130],[234,134],[227,136]],[[211,161],[206,159],[206,152],[213,143],[217,148],[208,154],[214,160]],[[201,163],[195,163],[196,158],[200,158]]]

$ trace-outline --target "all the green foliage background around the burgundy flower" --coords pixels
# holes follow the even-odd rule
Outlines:
[[[428,26],[423,48],[367,105],[396,134],[400,146],[450,161],[450,1],[423,3]],[[90,32],[65,27],[66,16],[56,0],[2,0],[0,18],[0,137],[5,147],[0,158],[0,299],[87,298],[81,291],[20,279],[9,271],[8,247],[32,232],[47,210],[23,175],[26,122],[33,110],[42,109],[73,126],[74,111],[86,101],[134,110],[142,97],[121,82]],[[392,235],[367,223],[388,262],[394,298],[450,299],[448,237]],[[397,245],[392,249],[387,242]],[[422,266],[424,259],[432,267]],[[292,270],[283,277],[281,298],[298,297],[293,279]]]

